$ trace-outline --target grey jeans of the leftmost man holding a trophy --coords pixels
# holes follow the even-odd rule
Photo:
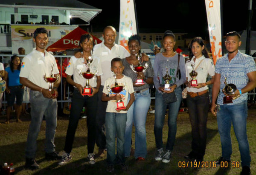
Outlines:
[[[57,99],[48,99],[41,92],[30,90],[31,123],[26,143],[26,158],[35,158],[36,139],[45,116],[45,152],[55,151],[54,136],[57,127]]]

